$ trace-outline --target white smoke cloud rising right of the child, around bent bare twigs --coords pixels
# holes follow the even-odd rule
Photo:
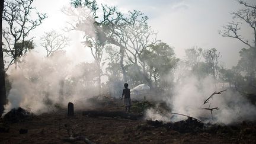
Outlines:
[[[186,71],[186,72],[184,72]],[[183,76],[180,76],[181,73]],[[256,119],[256,107],[252,105],[245,96],[236,92],[233,88],[222,88],[216,84],[212,76],[198,78],[185,69],[176,69],[175,84],[173,91],[169,91],[169,96],[164,98],[171,108],[171,112],[159,113],[155,109],[146,111],[146,119],[162,121],[178,121],[185,119],[171,113],[180,113],[211,123],[235,123],[244,120]],[[209,103],[204,104],[204,100],[210,97],[213,92],[224,91],[221,95],[213,95]],[[219,110],[203,108],[218,107]]]

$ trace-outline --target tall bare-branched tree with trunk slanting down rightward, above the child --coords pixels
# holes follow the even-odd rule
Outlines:
[[[146,63],[142,58],[142,53],[158,42],[156,33],[148,25],[148,17],[140,11],[129,11],[129,15],[124,17],[122,26],[116,28],[116,31],[115,40],[124,47],[126,58],[134,65],[140,78],[153,88],[145,68]]]

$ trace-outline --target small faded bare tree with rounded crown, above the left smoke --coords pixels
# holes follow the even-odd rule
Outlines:
[[[41,40],[43,41],[41,46],[46,49],[46,57],[52,55],[57,50],[63,50],[66,46],[68,46],[70,41],[68,37],[57,33],[55,30],[44,33]]]

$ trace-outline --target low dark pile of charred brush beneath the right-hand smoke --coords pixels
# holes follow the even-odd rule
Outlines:
[[[243,121],[235,124],[210,124],[202,123],[196,119],[188,117],[186,120],[164,123],[163,121],[148,120],[146,124],[137,126],[138,130],[143,132],[152,129],[162,129],[178,133],[210,133],[216,135],[231,135],[241,137],[255,137],[256,123],[252,121]]]

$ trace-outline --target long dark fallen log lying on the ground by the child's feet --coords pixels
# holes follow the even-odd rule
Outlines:
[[[120,117],[121,119],[139,120],[142,115],[124,113],[123,111],[83,111],[82,115],[89,117]]]

